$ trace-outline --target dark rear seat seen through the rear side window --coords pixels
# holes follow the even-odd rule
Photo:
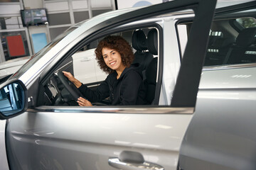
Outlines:
[[[256,28],[241,30],[235,45],[230,50],[226,64],[246,64],[256,62]]]

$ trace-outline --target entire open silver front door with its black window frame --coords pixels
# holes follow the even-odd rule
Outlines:
[[[171,1],[124,13],[85,31],[87,38],[93,39],[99,33],[110,33],[108,31],[111,28],[122,23],[198,7],[171,107],[30,108],[26,113],[9,120],[7,125],[6,144],[11,169],[114,169],[108,165],[108,159],[117,157],[124,150],[139,152],[146,161],[159,164],[164,169],[176,169],[180,141],[196,104],[214,6],[215,1],[211,0]],[[164,67],[161,43],[160,40],[159,77],[163,75]],[[74,44],[72,42],[69,45]],[[65,48],[58,55],[70,49]],[[46,71],[43,73],[50,74]],[[29,81],[24,80],[26,84]],[[161,81],[158,84],[161,86]]]

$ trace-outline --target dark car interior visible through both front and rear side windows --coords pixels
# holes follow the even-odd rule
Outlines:
[[[250,21],[250,26],[244,23]],[[186,26],[187,32],[191,28],[190,23],[179,23]],[[242,25],[243,24],[243,25]],[[256,20],[252,17],[245,18],[221,18],[215,19],[209,33],[208,49],[206,52],[205,67],[215,67],[228,64],[247,64],[256,62]],[[158,69],[158,41],[159,34],[156,28],[139,28],[126,30],[112,35],[121,35],[127,40],[134,50],[134,63],[140,64],[143,74],[143,81],[147,89],[146,101],[153,105],[156,96],[156,77]],[[97,43],[102,39],[98,38],[84,45],[78,52],[93,52]],[[180,40],[182,41],[182,40]],[[78,52],[75,52],[77,54]],[[78,106],[76,100],[82,96],[80,91],[66,79],[62,71],[71,72],[75,70],[75,54],[61,62],[57,69],[40,84],[37,106]],[[82,54],[82,53],[81,53]],[[93,56],[95,58],[95,56]],[[95,60],[97,66],[97,61]],[[87,67],[87,66],[85,66]],[[99,68],[97,68],[99,69]],[[84,71],[80,70],[81,74]],[[93,70],[92,70],[93,72]],[[76,76],[76,75],[75,75]],[[107,77],[107,75],[105,75]],[[90,89],[95,89],[105,80],[82,81]],[[110,105],[108,98],[94,106]]]

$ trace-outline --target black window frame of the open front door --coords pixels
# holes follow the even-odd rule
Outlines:
[[[188,8],[188,7],[190,7],[190,8],[195,8],[195,6],[198,6],[198,4],[199,4],[199,9],[197,8],[197,11],[196,11],[196,14],[198,14],[198,17],[200,18],[200,16],[202,17],[202,18],[207,18],[208,20],[209,20],[209,18],[210,18],[210,21],[211,21],[211,19],[212,19],[212,16],[213,16],[213,12],[208,12],[208,17],[206,17],[206,15],[205,15],[205,12],[206,11],[204,11],[203,10],[203,7],[202,6],[212,6],[212,11],[214,11],[214,8],[213,8],[213,6],[215,6],[214,4],[215,4],[215,2],[212,2],[213,4],[207,4],[207,3],[205,3],[205,2],[203,2],[203,1],[200,1],[200,0],[194,0],[194,1],[175,1],[175,2],[169,2],[170,4],[173,4],[174,6],[172,6],[171,8],[169,8],[168,6],[166,6],[166,4],[159,4],[159,5],[156,5],[156,6],[149,6],[149,7],[147,7],[147,8],[142,8],[142,9],[140,9],[139,11],[132,11],[132,12],[129,12],[129,13],[124,13],[124,14],[122,14],[121,16],[118,16],[118,17],[115,17],[115,18],[111,18],[110,20],[107,20],[107,21],[104,21],[104,22],[102,22],[102,23],[100,23],[100,24],[98,24],[95,28],[92,28],[92,29],[90,29],[90,30],[87,30],[83,35],[85,35],[84,37],[84,39],[83,40],[86,40],[86,42],[87,43],[90,43],[90,42],[92,42],[92,40],[95,40],[95,37],[96,37],[96,35],[98,35],[98,36],[104,36],[104,35],[106,35],[107,33],[108,33],[108,30],[112,30],[115,26],[123,26],[123,24],[125,24],[125,23],[131,23],[131,22],[133,22],[133,21],[139,21],[139,20],[141,20],[141,19],[144,19],[144,18],[149,18],[149,17],[151,17],[151,16],[158,16],[158,15],[160,15],[161,13],[165,13],[166,11],[168,11],[169,13],[171,13],[171,12],[174,12],[174,11],[181,11],[183,8]],[[203,4],[204,3],[204,4]],[[201,4],[203,4],[203,5],[201,5]],[[179,6],[182,6],[183,5],[183,8],[176,8],[177,6],[179,7]],[[159,8],[160,8],[160,10],[159,10]],[[200,11],[200,13],[198,12],[198,11]],[[139,15],[140,14],[140,15]],[[196,16],[196,18],[198,18],[197,16]],[[198,19],[198,21],[197,22],[201,22],[201,19]],[[196,25],[199,25],[199,23],[197,23],[197,22],[194,22],[195,24],[193,24],[194,26],[196,26]],[[208,30],[208,27],[209,27],[209,30],[210,30],[210,23],[209,23],[209,21],[206,21],[206,23],[203,23],[203,29],[205,29],[206,28],[206,30]],[[202,24],[200,24],[200,27],[199,26],[197,26],[198,28],[202,28]],[[100,29],[99,29],[100,28]],[[196,30],[196,28],[194,28],[194,30],[192,31],[194,34],[196,34],[196,35],[198,35],[198,34],[201,34],[201,30],[202,29],[199,29],[199,30]],[[196,35],[192,35],[192,39],[193,39],[193,41],[195,40],[195,39],[198,39],[198,37],[196,36]],[[195,37],[196,36],[196,37]],[[203,40],[201,40],[201,42],[203,42],[204,44],[206,44],[206,40],[207,40],[207,36],[203,36]],[[192,42],[193,42],[192,41]],[[192,42],[190,42],[190,44],[188,45],[188,47],[189,46],[192,46]],[[84,45],[85,43],[83,43],[83,45]],[[193,45],[194,46],[194,45]],[[198,58],[198,60],[201,60],[202,62],[203,62],[203,57],[204,57],[204,51],[206,50],[206,48],[205,49],[203,49],[202,47],[201,47],[201,45],[199,46],[199,45],[197,45],[198,46],[198,52],[197,52],[197,55],[196,56],[201,56],[201,58]],[[80,48],[80,47],[82,47],[82,45],[81,46],[79,46],[78,47],[78,49]],[[187,47],[187,49],[188,49],[188,47]],[[194,47],[193,47],[194,48]],[[187,50],[186,49],[186,50]],[[163,52],[161,52],[161,50],[163,50],[162,48],[160,48],[159,49],[159,54],[163,54]],[[70,50],[71,51],[71,50]],[[70,53],[70,51],[69,52],[66,52],[67,54],[66,55],[68,55],[68,53]],[[60,52],[60,54],[59,55],[61,55],[61,53],[62,52]],[[72,52],[71,52],[72,53]],[[188,53],[188,52],[187,52]],[[188,56],[189,56],[189,54],[187,54]],[[191,57],[191,56],[190,56]],[[59,58],[59,57],[55,57],[55,59],[56,58]],[[186,58],[186,57],[185,57]],[[188,59],[189,59],[189,57],[188,57]],[[183,62],[184,61],[187,61],[188,59],[183,59]],[[192,60],[192,59],[191,59]],[[193,60],[195,60],[195,59],[193,59]],[[187,61],[188,62],[188,61]],[[51,64],[49,64],[48,65],[48,68],[50,69],[50,65]],[[190,69],[192,69],[193,70],[193,68],[194,68],[195,66],[191,66],[191,68]],[[186,80],[186,76],[185,76],[185,74],[184,73],[182,73],[182,76],[181,75],[179,75],[178,76],[178,80],[177,80],[177,84],[178,85],[176,85],[176,88],[174,89],[174,96],[175,96],[175,98],[177,98],[176,100],[176,103],[174,103],[174,101],[175,100],[173,100],[173,102],[171,103],[171,107],[172,108],[176,108],[176,107],[181,107],[181,108],[183,108],[183,107],[185,107],[185,108],[194,108],[195,107],[195,104],[196,104],[196,94],[197,94],[197,91],[198,91],[198,84],[199,84],[199,80],[200,80],[200,75],[201,75],[201,67],[202,66],[200,66],[200,65],[196,65],[196,68],[197,68],[197,71],[196,71],[196,75],[198,75],[197,76],[197,78],[196,78],[196,81],[194,81],[193,80],[193,88],[189,88],[190,90],[191,89],[193,89],[192,91],[193,91],[193,94],[192,94],[192,96],[188,99],[188,100],[186,100],[185,102],[183,102],[183,98],[187,98],[187,94],[186,94],[186,92],[183,92],[183,89],[181,90],[181,88],[180,87],[178,87],[178,85],[180,85],[180,84],[183,84],[182,82],[183,81],[185,81],[185,84],[186,84],[186,82],[188,82],[187,80]],[[183,70],[182,72],[190,72],[190,71],[188,71],[188,68],[187,67],[184,67],[183,66],[183,64],[181,64],[181,69]],[[48,72],[49,70],[47,70],[46,72]],[[180,71],[181,72],[181,71]],[[193,72],[193,73],[195,73],[195,72]],[[189,81],[191,81],[191,79],[189,79]],[[181,93],[182,94],[182,96],[183,96],[183,98],[181,98],[180,97],[180,95],[179,95],[179,93]],[[184,94],[185,93],[185,94]],[[177,96],[178,95],[178,96]],[[174,98],[174,97],[173,97]],[[189,103],[190,102],[190,103]],[[179,103],[181,103],[181,104],[179,104]],[[117,107],[117,106],[115,106],[115,107]],[[125,107],[127,107],[127,106],[124,106],[124,108]],[[134,108],[134,106],[132,106],[133,108]],[[146,107],[146,108],[149,108],[149,106],[141,106],[142,108],[143,107]],[[152,106],[153,107],[153,106]],[[157,106],[157,107],[159,107],[159,106]],[[119,107],[119,108],[122,108],[122,107]],[[127,108],[129,108],[129,106],[127,107]],[[139,108],[139,106],[137,106],[137,108]],[[170,108],[170,106],[168,106],[167,108]],[[79,110],[83,110],[83,111],[90,111],[90,109],[89,108],[80,108]],[[71,109],[72,110],[72,109]],[[193,110],[193,109],[192,109]],[[86,112],[87,112],[86,111]]]

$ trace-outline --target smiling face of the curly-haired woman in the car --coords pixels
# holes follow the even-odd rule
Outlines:
[[[102,48],[102,56],[107,64],[107,67],[116,71],[122,71],[125,66],[122,63],[122,57],[116,50],[110,49],[108,47]]]

